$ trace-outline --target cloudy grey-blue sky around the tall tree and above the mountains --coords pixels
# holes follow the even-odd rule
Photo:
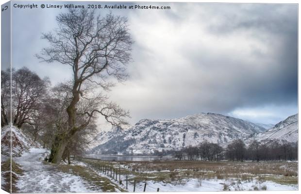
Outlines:
[[[128,17],[135,43],[129,79],[108,95],[130,110],[132,124],[207,112],[276,124],[298,112],[296,4],[153,4],[171,9],[112,10]],[[41,32],[66,11],[13,9],[14,67],[52,85],[70,78],[69,67],[34,58],[48,45]]]

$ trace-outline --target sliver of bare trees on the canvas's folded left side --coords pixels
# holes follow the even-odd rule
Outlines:
[[[8,125],[7,113],[10,109],[10,69],[1,70],[1,127]]]

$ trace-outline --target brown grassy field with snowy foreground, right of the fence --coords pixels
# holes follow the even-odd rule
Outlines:
[[[90,167],[102,177],[112,178],[114,169],[119,172],[122,188],[128,191],[253,191],[253,190],[298,190],[298,162],[104,162],[83,159],[79,164]]]

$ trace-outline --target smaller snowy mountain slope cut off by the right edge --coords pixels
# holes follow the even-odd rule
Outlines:
[[[287,142],[298,141],[298,114],[287,117],[284,121],[277,123],[273,128],[254,135],[251,139],[260,142],[282,140]]]

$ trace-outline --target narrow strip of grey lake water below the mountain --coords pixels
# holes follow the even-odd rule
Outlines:
[[[86,158],[100,159],[102,161],[154,161],[154,160],[174,160],[173,156],[163,156],[162,159],[160,156],[120,156],[120,155],[97,155],[97,154],[88,154]]]

